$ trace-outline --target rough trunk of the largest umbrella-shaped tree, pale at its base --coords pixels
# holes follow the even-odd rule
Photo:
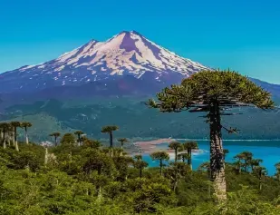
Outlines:
[[[214,182],[214,191],[218,200],[227,199],[225,177],[225,161],[223,156],[223,142],[221,132],[221,118],[219,103],[212,101],[209,110],[210,123],[210,179]]]

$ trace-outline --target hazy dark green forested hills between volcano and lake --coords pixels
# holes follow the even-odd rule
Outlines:
[[[154,95],[153,95],[154,96]],[[91,100],[57,101],[48,100],[9,106],[3,121],[26,121],[34,126],[30,136],[36,142],[50,141],[48,134],[82,130],[92,138],[102,139],[100,128],[105,124],[118,124],[117,136],[130,139],[208,138],[208,124],[201,120],[198,112],[157,112],[145,105],[149,98],[92,98]],[[279,101],[274,100],[280,104]],[[238,135],[224,134],[231,140],[275,140],[280,139],[280,112],[258,110],[253,107],[233,110],[242,114],[225,116],[228,126],[236,126]],[[43,123],[42,123],[43,122]],[[137,123],[135,123],[137,122]],[[263,126],[269,124],[269,126]],[[259,128],[262,127],[260,130]],[[20,131],[23,137],[24,132]]]

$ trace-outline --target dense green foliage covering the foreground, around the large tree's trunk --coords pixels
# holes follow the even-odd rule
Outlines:
[[[70,137],[63,144],[72,142]],[[43,146],[20,142],[20,151],[0,148],[0,214],[279,214],[279,181],[262,175],[258,191],[258,175],[237,174],[230,163],[228,200],[217,205],[208,165],[190,171],[186,163],[170,163],[159,177],[158,168],[145,169],[148,164],[140,155],[133,161],[82,145],[73,147],[70,157],[63,144],[49,148],[57,163],[53,167],[44,165]],[[168,159],[161,151],[153,156]]]

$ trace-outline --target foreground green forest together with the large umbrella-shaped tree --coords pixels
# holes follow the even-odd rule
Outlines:
[[[222,144],[222,132],[239,132],[222,117],[233,117],[234,107],[275,109],[270,93],[238,73],[206,71],[156,97],[146,105],[162,114],[205,115],[200,120],[208,123],[210,160],[198,170],[192,170],[197,142],[170,142],[175,160],[156,151],[150,157],[159,167],[149,168],[141,154],[127,153],[129,139],[115,137],[122,129],[116,124],[99,128],[108,137],[103,145],[80,130],[54,129],[49,133],[53,144],[38,144],[29,140],[31,122],[1,122],[0,214],[280,214],[280,164],[270,177],[250,151],[227,163]]]

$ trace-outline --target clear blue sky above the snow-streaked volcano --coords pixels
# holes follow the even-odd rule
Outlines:
[[[280,83],[278,0],[0,1],[0,73],[136,30],[211,67]]]

